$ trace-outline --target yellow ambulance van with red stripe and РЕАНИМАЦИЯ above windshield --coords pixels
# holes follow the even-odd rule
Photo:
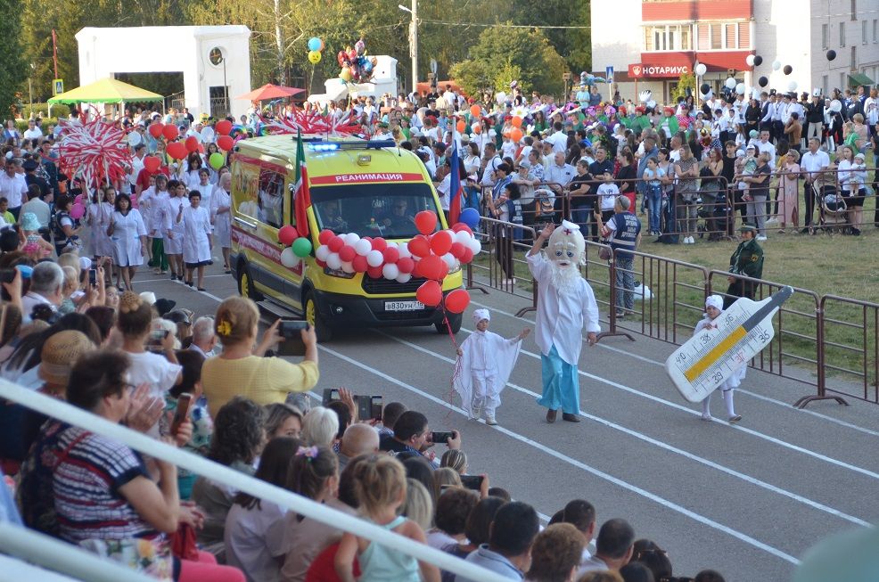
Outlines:
[[[415,214],[431,210],[446,228],[440,200],[421,160],[393,142],[353,138],[304,138],[310,203],[308,238],[357,233],[406,243],[418,234]],[[415,299],[424,282],[374,279],[316,263],[314,250],[299,266],[281,263],[278,230],[296,225],[297,142],[295,135],[242,140],[232,162],[232,270],[243,297],[275,313],[292,312],[316,326],[319,340],[352,327],[433,325],[447,332],[440,309]],[[300,233],[303,229],[299,229]],[[462,284],[460,268],[443,281],[446,294]],[[452,332],[461,315],[449,314]]]

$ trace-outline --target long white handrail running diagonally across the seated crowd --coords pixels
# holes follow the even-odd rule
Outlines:
[[[456,558],[450,553],[440,552],[429,545],[399,536],[392,531],[351,517],[324,504],[318,504],[286,489],[269,485],[265,481],[254,479],[201,456],[193,455],[177,447],[171,447],[140,432],[127,429],[120,424],[113,424],[96,414],[71,406],[67,402],[45,396],[32,389],[22,388],[10,381],[0,379],[0,398],[12,400],[12,402],[27,406],[62,422],[68,422],[108,439],[117,440],[145,455],[174,463],[196,475],[208,477],[210,480],[218,481],[238,491],[278,504],[289,511],[300,513],[359,537],[365,537],[372,542],[378,542],[391,549],[411,555],[417,560],[434,564],[441,570],[448,570],[464,578],[480,580],[481,582],[506,582],[508,580],[495,572]]]

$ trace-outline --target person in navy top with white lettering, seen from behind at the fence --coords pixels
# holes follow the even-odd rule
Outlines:
[[[641,221],[629,211],[629,200],[618,196],[613,204],[613,216],[606,225],[601,224],[601,215],[596,213],[601,234],[609,239],[614,250],[616,266],[616,309],[617,317],[635,313],[635,255],[641,243]]]

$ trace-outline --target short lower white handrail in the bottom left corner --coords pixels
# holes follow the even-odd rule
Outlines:
[[[4,485],[0,483],[0,487]],[[88,582],[156,582],[155,578],[99,558],[77,545],[65,544],[9,521],[0,521],[0,549],[8,555]]]

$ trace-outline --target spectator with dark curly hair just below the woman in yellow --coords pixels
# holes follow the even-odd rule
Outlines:
[[[214,419],[214,436],[208,458],[246,475],[253,474],[253,462],[266,444],[266,409],[248,398],[235,397],[219,409]],[[204,527],[198,532],[199,545],[222,558],[226,514],[237,491],[199,477],[193,484],[193,501],[204,512]]]

